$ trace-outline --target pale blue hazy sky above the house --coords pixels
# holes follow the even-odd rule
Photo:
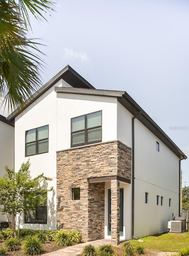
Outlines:
[[[59,0],[55,10],[31,17],[44,83],[70,65],[96,89],[126,91],[189,157],[189,1]]]

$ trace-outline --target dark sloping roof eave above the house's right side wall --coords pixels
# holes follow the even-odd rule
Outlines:
[[[128,93],[123,93],[123,98],[119,98],[118,101],[126,108],[133,116],[139,114],[137,119],[148,128],[158,139],[160,139],[167,147],[172,150],[180,159],[187,159],[187,156],[180,150],[179,147],[167,136],[167,134],[149,117],[149,115],[131,98]]]

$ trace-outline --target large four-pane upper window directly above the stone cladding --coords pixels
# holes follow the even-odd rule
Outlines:
[[[71,118],[71,147],[102,141],[102,111]]]

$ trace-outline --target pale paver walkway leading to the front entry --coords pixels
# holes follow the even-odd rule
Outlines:
[[[43,254],[42,256],[76,256],[82,252],[82,249],[86,244],[94,244],[94,246],[98,246],[101,244],[111,244],[111,240],[110,239],[109,240],[101,239],[101,240],[86,242],[83,244],[76,244],[73,246],[69,246],[69,247],[60,249],[58,251]]]

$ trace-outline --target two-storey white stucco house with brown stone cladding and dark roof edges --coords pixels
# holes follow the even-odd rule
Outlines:
[[[77,229],[84,241],[119,243],[165,231],[179,215],[187,157],[126,92],[96,90],[66,66],[8,120],[15,170],[30,158],[32,176],[44,172],[54,186],[22,228]]]

